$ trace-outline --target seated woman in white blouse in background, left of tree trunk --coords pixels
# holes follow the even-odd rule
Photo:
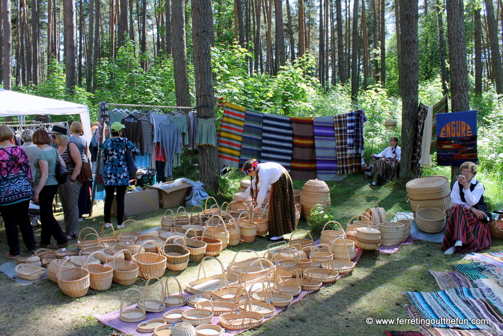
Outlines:
[[[372,169],[374,182],[372,185],[384,184],[396,177],[395,163],[400,162],[401,149],[398,147],[398,138],[391,137],[389,146],[379,154],[372,154],[373,158],[380,158]]]

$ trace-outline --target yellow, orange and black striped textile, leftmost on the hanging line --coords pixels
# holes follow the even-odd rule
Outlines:
[[[243,107],[225,103],[220,139],[218,141],[218,157],[222,165],[239,168],[241,143],[243,141],[244,111]]]

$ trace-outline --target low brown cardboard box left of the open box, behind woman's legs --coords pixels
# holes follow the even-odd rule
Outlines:
[[[124,196],[124,212],[130,216],[159,209],[157,190],[144,189],[143,191],[126,192]],[[112,217],[117,218],[117,201],[112,202]]]

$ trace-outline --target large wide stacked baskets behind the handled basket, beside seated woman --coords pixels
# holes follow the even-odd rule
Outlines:
[[[449,180],[445,176],[415,178],[407,182],[406,188],[414,214],[419,205],[441,211],[451,207],[451,190]]]

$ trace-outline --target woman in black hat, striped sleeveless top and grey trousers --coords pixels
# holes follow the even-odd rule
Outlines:
[[[66,183],[60,184],[58,187],[58,195],[63,207],[64,216],[64,232],[66,239],[75,239],[78,234],[78,194],[82,182],[77,178],[82,166],[82,159],[77,145],[68,138],[66,127],[54,125],[49,132],[54,143],[58,145],[58,153],[63,158],[63,161],[68,171],[68,179]]]

